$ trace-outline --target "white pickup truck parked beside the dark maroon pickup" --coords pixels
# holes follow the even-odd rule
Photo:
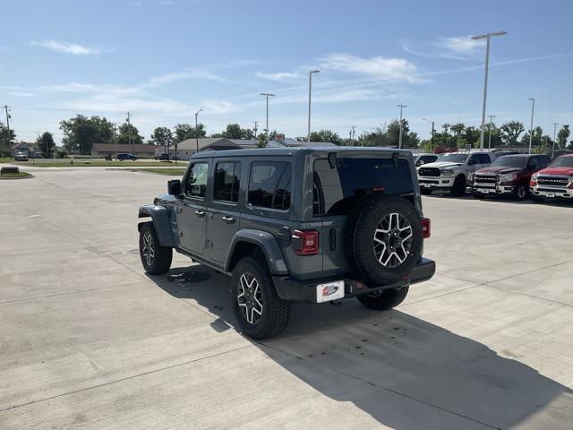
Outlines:
[[[479,168],[488,167],[495,155],[490,152],[449,152],[433,163],[417,169],[420,191],[431,194],[434,190],[449,191],[461,196],[470,184],[470,175]]]

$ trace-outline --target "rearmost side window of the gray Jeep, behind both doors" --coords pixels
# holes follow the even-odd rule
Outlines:
[[[248,202],[261,208],[290,208],[291,166],[283,161],[255,161],[251,166]]]

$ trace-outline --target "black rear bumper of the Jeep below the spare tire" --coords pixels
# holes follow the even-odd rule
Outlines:
[[[380,291],[381,289],[400,288],[412,284],[417,284],[419,282],[423,282],[424,280],[430,280],[435,272],[436,262],[427,258],[423,258],[410,272],[408,279],[400,280],[393,284],[375,288],[366,287],[360,280],[350,280],[340,276],[321,278],[318,280],[295,280],[289,277],[273,276],[273,280],[275,282],[275,287],[277,288],[278,297],[282,298],[283,300],[317,303],[316,286],[330,281],[344,280],[344,298],[347,298],[360,296],[366,293],[372,293],[374,291]]]

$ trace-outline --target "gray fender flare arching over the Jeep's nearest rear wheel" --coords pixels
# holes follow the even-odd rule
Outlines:
[[[271,274],[288,274],[285,256],[278,245],[277,238],[267,231],[256,230],[254,228],[243,228],[235,233],[227,252],[227,258],[225,259],[225,271],[231,271],[235,248],[241,242],[258,245],[261,248],[262,252],[267,257],[267,263],[269,264],[269,271]]]

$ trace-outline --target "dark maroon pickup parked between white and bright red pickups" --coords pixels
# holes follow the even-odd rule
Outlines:
[[[524,200],[529,194],[531,176],[549,166],[546,155],[504,155],[487,168],[476,170],[472,176],[472,193],[480,199],[486,195],[510,195]]]

